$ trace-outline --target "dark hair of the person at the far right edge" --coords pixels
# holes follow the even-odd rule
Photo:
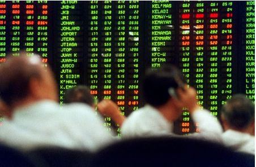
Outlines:
[[[237,94],[221,108],[221,114],[228,124],[237,129],[246,128],[254,120],[255,107],[245,95]]]

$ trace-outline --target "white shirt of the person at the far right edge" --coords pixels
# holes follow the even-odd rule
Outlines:
[[[234,151],[255,154],[255,137],[235,130],[227,130],[222,135],[225,146]]]

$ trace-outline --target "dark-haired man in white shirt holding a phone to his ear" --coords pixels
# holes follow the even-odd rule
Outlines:
[[[206,109],[200,109],[195,89],[185,85],[184,76],[177,68],[163,65],[147,71],[142,86],[146,106],[126,118],[122,137],[173,134],[173,122],[186,107],[194,122],[199,124],[200,132],[193,136],[221,142],[220,123]]]

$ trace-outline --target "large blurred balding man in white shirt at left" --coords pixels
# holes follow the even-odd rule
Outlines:
[[[95,151],[112,142],[103,120],[86,104],[58,104],[57,84],[39,56],[8,56],[0,66],[0,96],[10,107],[0,142],[21,150],[59,146]]]

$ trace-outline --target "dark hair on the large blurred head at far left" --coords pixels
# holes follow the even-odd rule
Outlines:
[[[8,55],[0,67],[0,96],[8,105],[29,94],[31,78],[41,77],[39,65],[29,63],[29,59],[26,52],[20,52],[18,57]]]

